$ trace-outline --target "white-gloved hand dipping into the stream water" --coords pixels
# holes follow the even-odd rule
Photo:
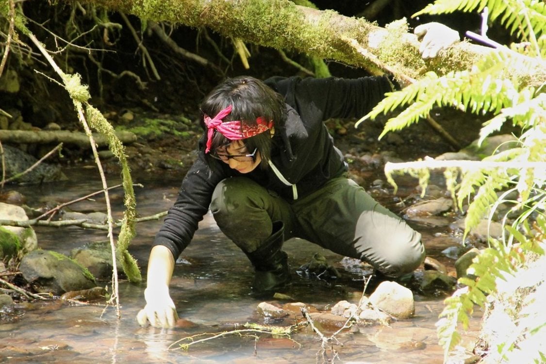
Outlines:
[[[148,287],[144,290],[146,306],[136,315],[136,320],[141,326],[146,326],[148,321],[155,327],[173,327],[178,319],[176,307],[169,296],[169,287]]]

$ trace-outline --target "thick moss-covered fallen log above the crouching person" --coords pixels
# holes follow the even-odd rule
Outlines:
[[[364,19],[302,7],[288,0],[81,0],[80,3],[133,14],[143,20],[207,27],[224,37],[333,59],[371,73],[382,73],[378,64],[384,64],[414,79],[430,70],[443,74],[468,69],[491,50],[461,42],[453,50],[423,61],[417,37],[406,29],[386,29]],[[348,40],[356,40],[379,62],[363,56]],[[453,52],[460,54],[453,57]]]

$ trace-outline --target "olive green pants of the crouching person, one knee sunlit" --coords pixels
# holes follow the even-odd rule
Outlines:
[[[210,209],[222,232],[248,253],[280,220],[286,240],[303,238],[388,276],[414,271],[425,257],[419,232],[344,177],[293,202],[246,177],[227,178],[216,187]]]

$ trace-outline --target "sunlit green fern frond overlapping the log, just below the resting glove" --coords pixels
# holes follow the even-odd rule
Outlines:
[[[401,91],[387,94],[387,97],[357,121],[355,126],[358,126],[360,122],[367,118],[373,119],[379,114],[386,114],[399,106],[407,104],[410,106],[387,121],[383,132],[379,135],[379,139],[388,132],[401,130],[417,123],[421,118],[426,117],[434,106],[454,106],[476,114],[483,112],[497,113],[505,109],[507,112],[511,112],[511,114],[492,119],[490,127],[486,128],[484,133],[484,135],[489,135],[497,128],[500,128],[509,116],[521,114],[525,103],[531,102],[530,98],[532,98],[534,89],[530,88],[529,92],[520,96],[519,83],[502,78],[507,64],[517,64],[519,66],[521,62],[521,59],[507,55],[507,52],[492,52],[470,71],[450,72],[442,77],[430,72],[413,85]],[[521,105],[518,105],[520,102]],[[536,110],[537,115],[539,115],[542,100],[536,100],[535,104],[536,107],[533,110]],[[507,109],[514,105],[520,107]],[[518,120],[521,120],[521,118]]]

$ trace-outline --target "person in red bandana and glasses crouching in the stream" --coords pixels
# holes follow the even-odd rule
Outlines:
[[[150,253],[138,322],[174,326],[169,283],[175,260],[209,208],[253,265],[258,294],[289,285],[282,246],[292,237],[365,261],[388,277],[419,267],[421,235],[347,177],[348,165],[323,123],[365,115],[392,90],[385,76],[239,76],[214,88],[201,104],[198,159]]]

